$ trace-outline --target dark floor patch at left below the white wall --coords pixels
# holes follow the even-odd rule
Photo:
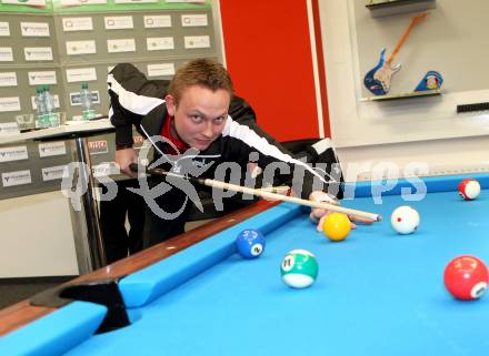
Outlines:
[[[0,309],[74,277],[76,276],[0,279]]]

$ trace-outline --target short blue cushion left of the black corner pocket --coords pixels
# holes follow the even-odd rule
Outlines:
[[[2,356],[56,356],[89,338],[102,323],[102,305],[73,302],[0,338]]]

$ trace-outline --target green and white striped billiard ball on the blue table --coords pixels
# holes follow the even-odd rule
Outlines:
[[[306,250],[290,251],[280,265],[283,282],[292,288],[309,287],[315,283],[318,269],[315,255]]]

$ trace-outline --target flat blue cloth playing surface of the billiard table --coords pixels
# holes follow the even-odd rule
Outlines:
[[[134,308],[133,325],[67,355],[485,354],[489,296],[457,302],[445,291],[442,273],[460,254],[489,262],[488,192],[472,202],[442,192],[408,202],[389,195],[381,203],[345,203],[385,221],[360,226],[342,243],[316,232],[307,215],[291,217],[267,234],[260,258],[233,254]],[[421,215],[413,235],[397,235],[390,226],[390,213],[405,204]],[[273,218],[270,212],[260,216]],[[280,278],[281,258],[292,248],[317,255],[319,276],[310,288],[290,289]]]

